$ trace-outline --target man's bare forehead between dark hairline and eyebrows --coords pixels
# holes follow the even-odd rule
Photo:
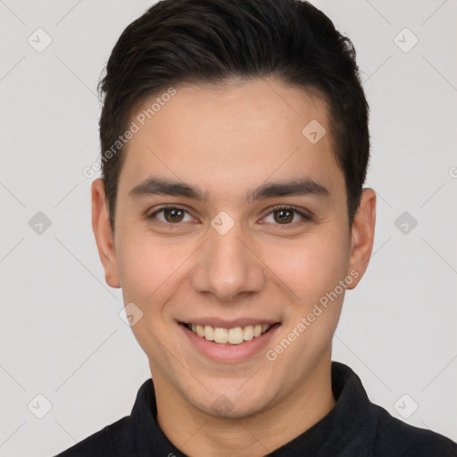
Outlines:
[[[337,185],[328,107],[316,93],[274,80],[181,85],[149,96],[130,117],[137,133],[121,175],[166,174],[217,191],[306,175]],[[340,175],[340,176],[337,176]],[[251,187],[251,186],[249,186]]]

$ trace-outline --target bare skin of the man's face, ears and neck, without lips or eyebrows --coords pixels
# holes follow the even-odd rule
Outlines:
[[[122,287],[124,303],[144,313],[132,330],[149,359],[157,420],[171,443],[190,456],[262,456],[335,406],[331,342],[344,292],[276,360],[265,350],[351,272],[358,277],[347,288],[356,287],[370,260],[376,195],[363,190],[350,227],[345,178],[319,96],[272,79],[176,89],[129,140],[114,233],[104,183],[94,181],[96,243],[107,283]],[[302,134],[311,120],[327,130],[316,144]],[[245,199],[249,189],[303,176],[328,195]],[[151,177],[185,181],[208,200],[129,195]],[[167,221],[163,212],[147,219],[163,204],[188,214],[179,222]],[[312,220],[292,213],[284,222],[274,205],[293,205]],[[225,235],[211,225],[220,211],[235,222]],[[280,327],[259,353],[224,363],[197,352],[179,327],[203,316],[273,320]],[[212,407],[218,398],[228,399],[226,411]]]

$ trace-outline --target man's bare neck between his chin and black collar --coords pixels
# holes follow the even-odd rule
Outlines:
[[[190,457],[261,457],[292,441],[335,406],[330,359],[281,402],[254,416],[215,418],[192,407],[155,373],[157,421],[170,442]]]

